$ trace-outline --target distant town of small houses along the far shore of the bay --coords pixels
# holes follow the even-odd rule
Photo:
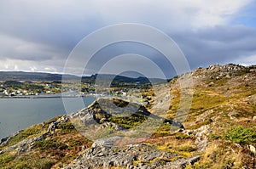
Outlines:
[[[81,86],[77,87],[74,85],[76,82],[61,83],[61,81],[52,82],[20,82],[20,81],[5,81],[0,82],[0,98],[23,98],[32,96],[61,96],[61,93],[67,93],[72,96],[86,96],[95,95],[97,85],[87,82],[81,82]],[[141,84],[140,82],[135,83],[122,83],[119,86],[114,83],[112,87],[97,91],[100,95],[112,95],[126,97],[138,93],[138,98],[144,104],[148,104],[146,95],[141,95],[141,92],[148,91],[150,88],[149,84]]]

